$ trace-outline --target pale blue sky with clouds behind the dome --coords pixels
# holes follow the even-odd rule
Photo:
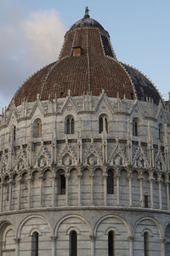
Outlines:
[[[110,33],[117,59],[137,67],[167,99],[169,0],[0,0],[0,108],[32,73],[57,59],[65,32],[85,6]]]

